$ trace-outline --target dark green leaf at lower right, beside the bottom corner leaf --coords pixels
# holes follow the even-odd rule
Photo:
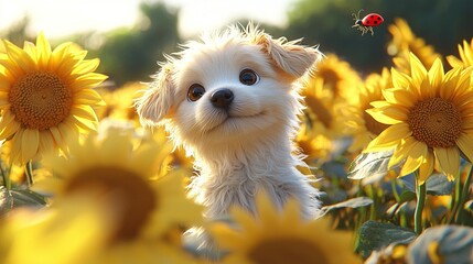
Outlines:
[[[363,257],[369,256],[391,243],[407,244],[416,239],[416,233],[393,223],[368,220],[359,228],[359,241],[356,249]]]

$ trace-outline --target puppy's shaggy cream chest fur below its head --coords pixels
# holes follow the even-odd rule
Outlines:
[[[201,175],[191,184],[191,195],[206,206],[206,217],[213,219],[228,213],[232,206],[240,206],[255,213],[255,196],[266,191],[275,206],[281,208],[292,197],[301,204],[304,218],[316,216],[319,191],[310,178],[297,168],[300,160],[291,154],[290,142],[271,141],[238,150],[219,150],[217,160],[198,164]],[[269,145],[268,145],[269,144]]]

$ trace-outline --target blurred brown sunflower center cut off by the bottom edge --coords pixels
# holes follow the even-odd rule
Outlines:
[[[248,254],[256,264],[329,263],[321,250],[300,239],[273,239],[264,241]]]

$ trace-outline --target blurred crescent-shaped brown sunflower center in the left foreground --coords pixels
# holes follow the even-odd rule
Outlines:
[[[73,177],[66,191],[98,190],[112,195],[120,205],[119,223],[114,241],[127,241],[137,238],[141,228],[157,208],[157,199],[148,182],[142,177],[117,167],[94,167]]]

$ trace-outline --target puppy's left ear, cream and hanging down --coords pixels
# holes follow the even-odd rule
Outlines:
[[[150,88],[136,101],[137,112],[143,125],[154,125],[170,114],[174,105],[172,64],[162,65]]]

